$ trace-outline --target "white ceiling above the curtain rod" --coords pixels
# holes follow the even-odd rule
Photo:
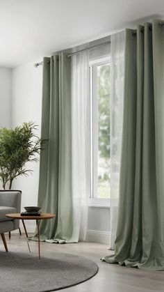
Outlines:
[[[0,0],[0,66],[14,68],[159,14],[163,0]]]

